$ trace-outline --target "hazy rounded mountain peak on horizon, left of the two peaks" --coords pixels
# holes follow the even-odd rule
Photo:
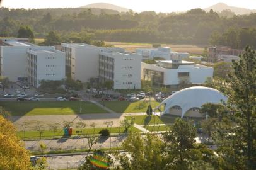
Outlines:
[[[129,9],[127,9],[127,8],[123,8],[123,7],[116,6],[116,5],[113,5],[113,4],[108,4],[108,3],[93,3],[93,4],[88,4],[86,6],[81,6],[81,8],[112,9],[112,10],[115,10],[115,11],[119,11],[119,13],[129,11]]]

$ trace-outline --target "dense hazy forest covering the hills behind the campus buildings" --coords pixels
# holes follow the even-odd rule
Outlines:
[[[147,43],[185,43],[256,47],[256,13],[236,16],[191,9],[186,13],[144,11],[118,13],[110,9],[0,8],[0,36],[16,37],[29,25],[36,38],[50,31],[60,37],[90,35],[94,40]],[[81,34],[83,32],[83,34]],[[81,37],[80,37],[81,38]]]

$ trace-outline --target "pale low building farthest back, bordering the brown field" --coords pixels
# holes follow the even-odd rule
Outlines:
[[[137,54],[143,56],[143,60],[153,59],[154,57],[161,57],[165,60],[172,60],[172,57],[181,57],[182,59],[188,58],[187,52],[172,52],[169,47],[158,47],[158,48],[137,48]]]

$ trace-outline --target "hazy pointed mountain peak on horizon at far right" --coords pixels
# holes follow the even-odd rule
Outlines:
[[[208,8],[205,8],[204,10],[205,11],[210,11],[210,10],[213,10],[213,11],[218,11],[218,12],[221,12],[225,9],[230,9],[231,11],[233,11],[235,14],[250,14],[250,13],[256,13],[256,10],[253,9],[247,9],[247,8],[239,8],[239,7],[235,7],[235,6],[228,6],[227,4],[224,4],[224,3],[218,3],[218,4],[215,4],[213,6],[210,6]]]

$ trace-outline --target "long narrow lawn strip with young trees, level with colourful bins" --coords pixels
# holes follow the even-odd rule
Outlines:
[[[93,128],[86,128],[82,130],[82,134],[83,135],[93,135],[93,134],[98,134],[98,132],[100,132],[100,130],[102,130],[103,128],[95,128],[95,130],[93,130]],[[110,128],[109,128],[110,130]],[[80,133],[76,133],[76,131],[79,131],[79,129],[73,129],[73,135],[80,135]],[[110,130],[110,133],[123,133],[124,132],[124,128],[122,127],[112,127]],[[141,132],[141,130],[132,127],[131,128],[131,132]],[[25,138],[38,138],[40,137],[40,133],[38,131],[25,131],[25,135],[23,131],[18,131],[17,132],[18,137],[25,137]],[[45,130],[45,132],[43,133],[42,137],[53,137],[54,133],[50,130]],[[63,136],[64,135],[64,130],[58,130],[57,132],[55,132],[55,136]]]

